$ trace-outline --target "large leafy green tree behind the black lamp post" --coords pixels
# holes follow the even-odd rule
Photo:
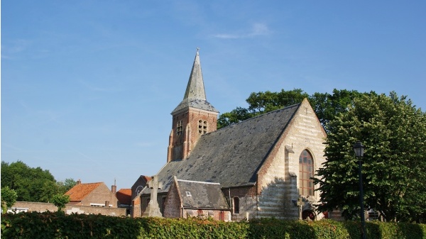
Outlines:
[[[358,159],[352,145],[361,140],[364,204],[386,221],[420,221],[426,215],[426,115],[395,92],[365,94],[326,125],[322,168],[315,184],[321,211],[342,209],[346,218],[359,213]]]

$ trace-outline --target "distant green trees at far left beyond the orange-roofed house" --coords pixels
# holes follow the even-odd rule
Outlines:
[[[1,188],[16,191],[16,201],[48,202],[55,194],[63,194],[75,185],[73,179],[56,182],[49,170],[28,167],[21,161],[1,161]]]

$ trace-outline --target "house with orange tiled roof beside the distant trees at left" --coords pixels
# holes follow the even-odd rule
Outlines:
[[[81,180],[77,181],[72,189],[68,190],[65,195],[70,196],[70,205],[72,206],[99,206],[117,208],[119,200],[116,198],[116,186],[113,185],[111,190],[104,182],[82,184]]]

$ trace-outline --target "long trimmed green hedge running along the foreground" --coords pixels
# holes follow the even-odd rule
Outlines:
[[[366,223],[367,238],[426,239],[425,224]],[[1,215],[1,238],[361,238],[354,221],[231,222],[163,218],[120,218],[64,213]]]

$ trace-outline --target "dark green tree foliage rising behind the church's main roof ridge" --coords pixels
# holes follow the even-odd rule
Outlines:
[[[246,119],[261,115],[262,113],[275,111],[285,106],[298,104],[305,98],[310,101],[312,109],[317,113],[320,122],[324,126],[337,113],[347,111],[348,106],[353,104],[354,99],[364,94],[376,95],[373,91],[370,93],[360,93],[346,89],[334,89],[332,94],[317,92],[311,96],[302,91],[302,89],[293,89],[290,91],[281,89],[278,92],[253,92],[246,99],[249,106],[247,108],[237,107],[230,112],[222,113],[217,120],[217,128],[245,121]]]

